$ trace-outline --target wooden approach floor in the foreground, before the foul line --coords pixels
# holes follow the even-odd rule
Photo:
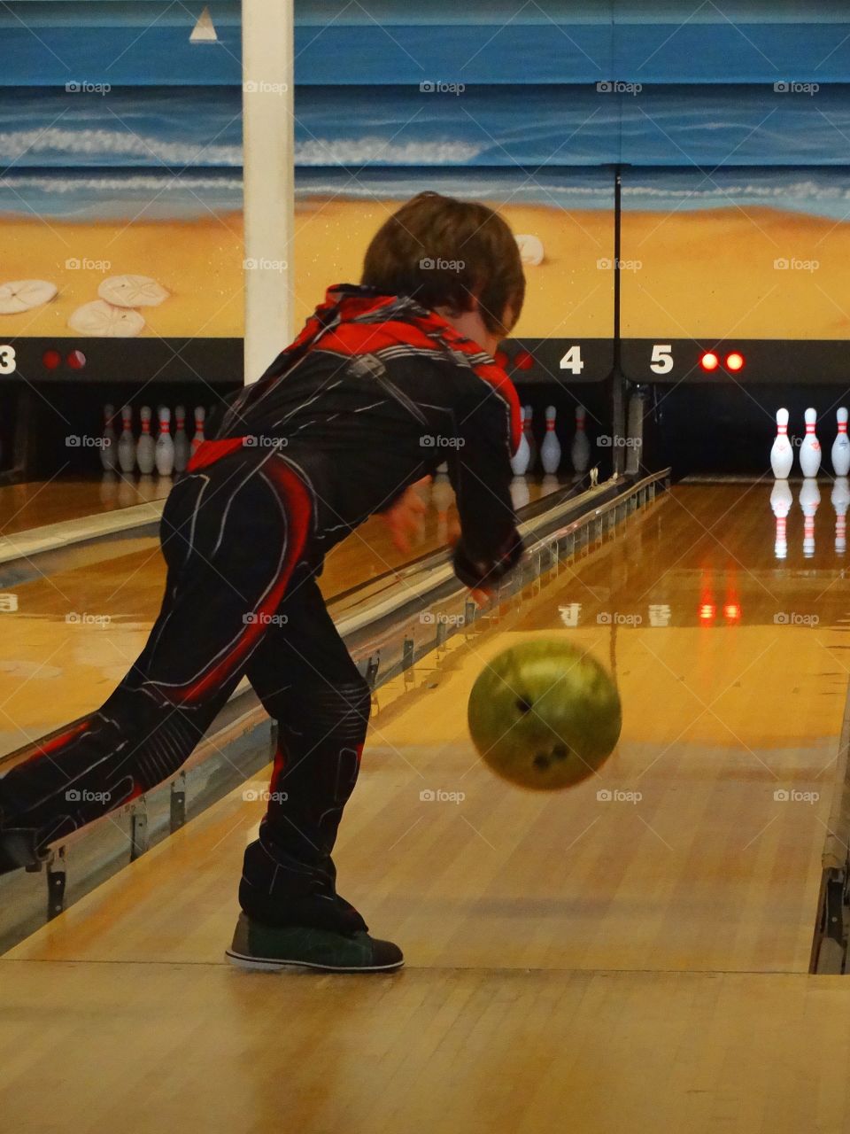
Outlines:
[[[842,978],[0,962],[22,1134],[843,1134]]]

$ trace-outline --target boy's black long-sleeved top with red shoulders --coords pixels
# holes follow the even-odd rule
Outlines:
[[[510,497],[519,400],[504,371],[444,319],[405,296],[340,285],[260,381],[231,399],[215,442],[278,448],[313,494],[312,552],[334,543],[443,462],[461,539],[454,569],[469,586],[516,564],[521,542]]]

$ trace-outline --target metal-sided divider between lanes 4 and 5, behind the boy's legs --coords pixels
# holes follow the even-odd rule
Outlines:
[[[500,587],[493,608],[589,551],[669,485],[666,468],[640,480],[612,479],[579,496],[553,493],[551,508],[520,524],[527,550],[521,565]],[[419,658],[442,646],[452,634],[468,635],[491,609],[479,610],[469,599],[444,550],[394,576],[394,583],[377,594],[369,586],[373,581],[365,583],[347,596],[345,612],[334,616],[373,691],[409,674]],[[362,601],[357,601],[358,591],[364,592]],[[274,722],[243,680],[176,776],[62,839],[33,871],[0,878],[0,953],[62,912],[69,863],[74,864],[73,890],[78,899],[264,769],[273,758],[274,733]],[[41,738],[42,743],[46,739]],[[0,771],[25,759],[28,751],[32,746],[0,759]],[[46,911],[44,897],[40,898],[32,885],[32,873],[42,873],[46,881]],[[11,925],[5,923],[10,912],[16,919]]]

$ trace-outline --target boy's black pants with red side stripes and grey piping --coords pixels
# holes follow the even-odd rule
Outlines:
[[[163,509],[165,594],[147,644],[101,709],[0,780],[3,838],[35,832],[44,847],[167,780],[247,675],[279,748],[240,904],[269,924],[363,928],[331,852],[369,691],[308,564],[312,527],[311,494],[278,450],[206,442]]]

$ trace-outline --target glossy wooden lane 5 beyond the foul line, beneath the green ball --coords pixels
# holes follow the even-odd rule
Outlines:
[[[807,971],[847,629],[826,569],[823,621],[774,621],[815,599],[765,556],[764,502],[674,490],[380,691],[340,886],[415,966]],[[615,668],[624,726],[597,777],[547,795],[481,764],[465,710],[494,653],[552,634]],[[261,810],[228,797],[14,955],[214,962]]]

